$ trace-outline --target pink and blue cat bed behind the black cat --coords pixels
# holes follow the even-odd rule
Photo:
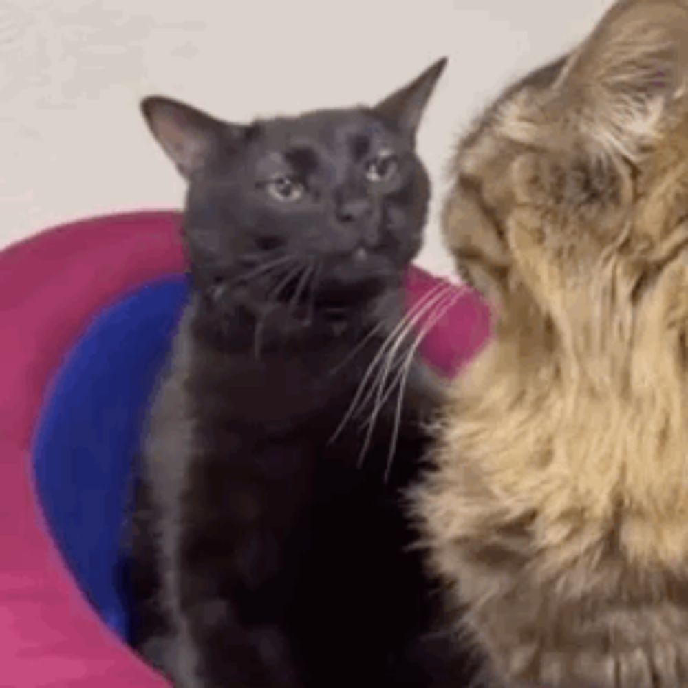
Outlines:
[[[409,272],[409,305],[436,283]],[[2,688],[168,685],[126,644],[120,537],[186,292],[175,213],[89,219],[0,253]],[[451,374],[487,334],[462,290],[422,351]]]

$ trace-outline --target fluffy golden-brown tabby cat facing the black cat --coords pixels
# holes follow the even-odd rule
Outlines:
[[[626,0],[462,142],[495,312],[416,493],[490,685],[688,686],[688,0]]]

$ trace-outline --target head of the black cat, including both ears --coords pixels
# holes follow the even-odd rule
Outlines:
[[[195,286],[256,310],[267,300],[299,311],[310,300],[316,312],[398,288],[429,200],[416,131],[445,63],[374,107],[248,125],[144,100],[153,135],[188,181]]]

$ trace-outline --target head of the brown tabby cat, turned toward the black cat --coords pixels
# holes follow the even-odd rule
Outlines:
[[[686,308],[687,85],[688,2],[620,1],[460,143],[443,230],[498,326],[592,336],[660,322],[669,292]]]

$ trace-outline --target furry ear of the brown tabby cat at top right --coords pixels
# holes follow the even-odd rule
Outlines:
[[[687,77],[688,3],[621,0],[563,67],[552,105],[603,149],[634,158],[685,97]]]

